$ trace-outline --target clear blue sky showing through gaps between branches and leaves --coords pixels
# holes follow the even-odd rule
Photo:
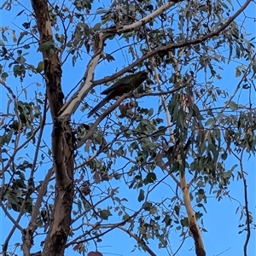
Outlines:
[[[1,5],[3,4],[4,1],[2,1]],[[247,10],[247,15],[248,16],[253,16],[253,12],[255,11],[255,6],[253,9],[253,6],[251,5],[251,9]],[[1,20],[0,25],[1,26],[7,26],[9,25],[10,27],[14,27],[14,24],[21,24],[20,22],[24,22],[23,18],[17,17],[13,21],[13,23],[8,22],[11,19],[11,16],[15,16],[20,12],[20,8],[14,8],[12,12],[7,13],[3,12],[3,17]],[[4,19],[4,17],[8,17],[8,19]],[[253,34],[255,35],[254,28],[253,26],[253,20],[251,21],[252,23],[245,24],[247,26],[248,31],[252,32],[252,37]],[[252,24],[252,25],[251,25]],[[16,27],[16,37],[19,35],[19,29]],[[252,38],[251,37],[251,38]],[[11,43],[11,41],[9,41]],[[112,50],[113,44],[108,44],[106,52],[110,52]],[[28,49],[29,51],[30,49]],[[116,55],[116,60],[121,59],[123,61],[124,56],[123,55]],[[28,61],[31,61],[34,66],[37,66],[38,61],[41,59],[40,53],[37,53],[36,55],[28,55]],[[67,64],[65,65],[63,69],[63,91],[66,94],[72,87],[73,84],[77,84],[80,79],[80,75],[84,73],[84,68],[86,67],[88,58],[84,58],[83,60],[78,60],[76,67],[74,69],[70,68],[70,63],[71,61],[67,61]],[[124,63],[125,65],[128,65],[129,60]],[[122,63],[123,65],[123,63]],[[106,63],[102,63],[99,67],[96,68],[96,79],[100,79],[106,75],[112,74],[115,71],[115,68],[119,67],[118,61],[111,62],[110,65],[106,65]],[[218,81],[219,87],[222,87],[223,89],[229,90],[230,95],[232,94],[232,91],[235,89],[235,86],[237,84],[238,79],[235,79],[235,67],[236,63],[231,63],[229,67],[225,67],[224,73],[222,73],[223,79]],[[74,70],[74,71],[73,71]],[[20,87],[20,82],[17,79],[9,78],[7,80],[9,85],[15,84],[14,86]],[[38,82],[44,86],[43,79],[40,78],[39,75],[32,76],[32,78],[26,78],[24,83],[22,84],[23,86],[27,86],[29,84],[32,84],[34,82]],[[42,90],[41,88],[37,88],[36,86],[29,87],[30,90],[32,89],[33,93],[34,90]],[[14,89],[14,88],[13,88]],[[102,90],[102,87],[98,86],[96,91]],[[44,90],[43,90],[44,91]],[[31,95],[33,95],[33,93]],[[6,109],[6,91],[3,89],[2,86],[0,86],[0,96],[1,96],[1,103],[0,103],[0,110],[5,111]],[[24,98],[24,96],[23,96]],[[22,99],[22,96],[21,96]],[[91,98],[92,99],[92,98]],[[25,100],[25,98],[24,98]],[[240,97],[241,102],[247,102],[247,92],[242,93]],[[150,100],[143,98],[140,99],[140,102],[142,104],[145,104],[147,106],[148,102]],[[253,99],[253,102],[255,103],[255,96]],[[92,104],[92,102],[88,102]],[[86,117],[83,118],[86,120]],[[49,119],[50,120],[50,119]],[[46,132],[51,131],[50,125],[48,125],[48,129],[45,130]],[[50,137],[46,137],[45,140],[46,142],[49,143]],[[27,154],[33,154],[33,148],[28,147],[26,149]],[[226,162],[226,170],[229,170],[233,165],[234,165],[234,158],[230,157],[229,160]],[[248,193],[248,201],[249,201],[249,207],[250,210],[253,211],[253,216],[255,217],[255,157],[252,155],[251,158],[245,157],[245,162],[244,162],[244,167],[245,171],[249,174],[247,178],[247,190],[249,191]],[[42,170],[42,177],[44,178],[45,173],[48,170],[48,166],[45,165],[43,170]],[[239,171],[237,167],[237,171]],[[158,173],[158,178],[163,175],[162,173]],[[189,180],[189,177],[188,177]],[[172,188],[175,188],[175,185],[172,183],[172,181],[169,179],[168,180],[169,185],[171,185]],[[122,183],[120,181],[111,181],[113,188],[115,187],[120,187],[122,186]],[[203,233],[203,240],[205,242],[205,247],[207,249],[207,255],[218,255],[222,253],[221,255],[242,255],[242,246],[245,241],[245,236],[246,233],[243,232],[242,234],[238,234],[238,232],[241,230],[237,228],[239,224],[239,218],[240,218],[240,211],[236,213],[236,208],[239,207],[239,201],[241,202],[241,205],[244,204],[244,199],[243,199],[243,189],[242,189],[242,183],[241,180],[232,182],[229,187],[230,190],[230,197],[236,199],[236,200],[231,200],[228,197],[224,197],[222,201],[216,201],[216,199],[213,197],[213,195],[210,195],[207,198],[207,213],[204,212],[203,216],[203,222],[205,228],[208,230],[207,233]],[[154,193],[152,195],[152,201],[154,200],[159,200],[160,198],[164,198],[166,194],[163,195],[163,191],[168,196],[172,195],[172,189],[170,189],[169,186],[164,185],[162,187],[159,187],[154,190]],[[120,194],[118,195],[119,198],[126,197],[128,202],[125,204],[125,206],[129,207],[134,207],[137,208],[139,207],[139,203],[137,202],[137,190],[132,190],[132,189],[125,189],[122,188],[120,189]],[[198,210],[195,208],[195,211]],[[203,211],[202,209],[200,209]],[[9,229],[12,227],[12,224],[10,224],[8,218],[6,218],[3,214],[3,212],[0,212],[1,216],[1,231],[0,231],[0,243],[3,244],[3,241],[5,241],[6,236],[9,234]],[[15,213],[14,215],[15,216]],[[111,221],[120,221],[120,219],[116,218],[110,218]],[[27,218],[23,219],[20,224],[24,225],[26,227],[27,223]],[[175,252],[176,248],[179,246],[179,243],[181,240],[177,238],[179,236],[179,231],[173,230],[172,235],[170,237],[170,244],[172,246],[172,252]],[[255,253],[255,232],[252,230],[252,235],[251,235],[251,240],[248,246],[248,255],[253,255]],[[12,239],[12,242],[9,244],[15,244],[15,242],[20,241],[20,235],[16,232],[15,236]],[[37,241],[41,240],[35,240],[35,243],[37,244]],[[133,249],[133,246],[135,244],[135,241],[131,240],[130,237],[125,234],[121,230],[113,230],[111,231],[108,235],[103,237],[102,243],[100,243],[99,250],[104,253],[109,254],[109,255],[131,255],[131,250]],[[153,245],[153,246],[152,246]],[[158,250],[157,248],[157,242],[153,242],[152,244],[149,245],[153,251],[159,255],[168,255],[164,249]],[[90,250],[94,250],[95,246],[92,241],[89,243],[89,248]],[[189,251],[189,248],[191,248],[191,251]],[[191,238],[188,238],[185,243],[183,244],[183,247],[181,251],[177,255],[195,255],[193,248],[193,240]],[[36,250],[36,247],[35,247]],[[21,255],[19,251],[16,252],[18,255]],[[70,249],[67,251],[67,255],[74,255],[73,250]],[[147,255],[146,253],[139,253],[137,250],[133,255]]]

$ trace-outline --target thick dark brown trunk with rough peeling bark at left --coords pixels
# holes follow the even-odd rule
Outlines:
[[[53,42],[53,33],[49,21],[47,1],[32,0],[40,44]],[[55,170],[55,204],[49,221],[49,232],[44,241],[41,255],[64,255],[67,236],[70,232],[71,210],[73,205],[73,131],[68,120],[58,119],[58,113],[63,106],[61,90],[61,61],[57,49],[54,54],[43,52],[44,79],[46,81],[47,97],[54,127],[52,131],[52,154]],[[24,230],[23,252],[29,255],[32,247],[34,230],[29,227]]]

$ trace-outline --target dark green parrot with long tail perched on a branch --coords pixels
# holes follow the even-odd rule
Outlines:
[[[107,95],[102,102],[99,102],[95,108],[92,108],[88,113],[88,117],[96,113],[100,108],[102,108],[105,103],[113,100],[116,96],[122,96],[132,90],[137,89],[137,87],[143,83],[148,78],[148,72],[140,71],[122,79],[119,79],[116,83],[110,86],[108,89],[102,91],[102,95]]]

